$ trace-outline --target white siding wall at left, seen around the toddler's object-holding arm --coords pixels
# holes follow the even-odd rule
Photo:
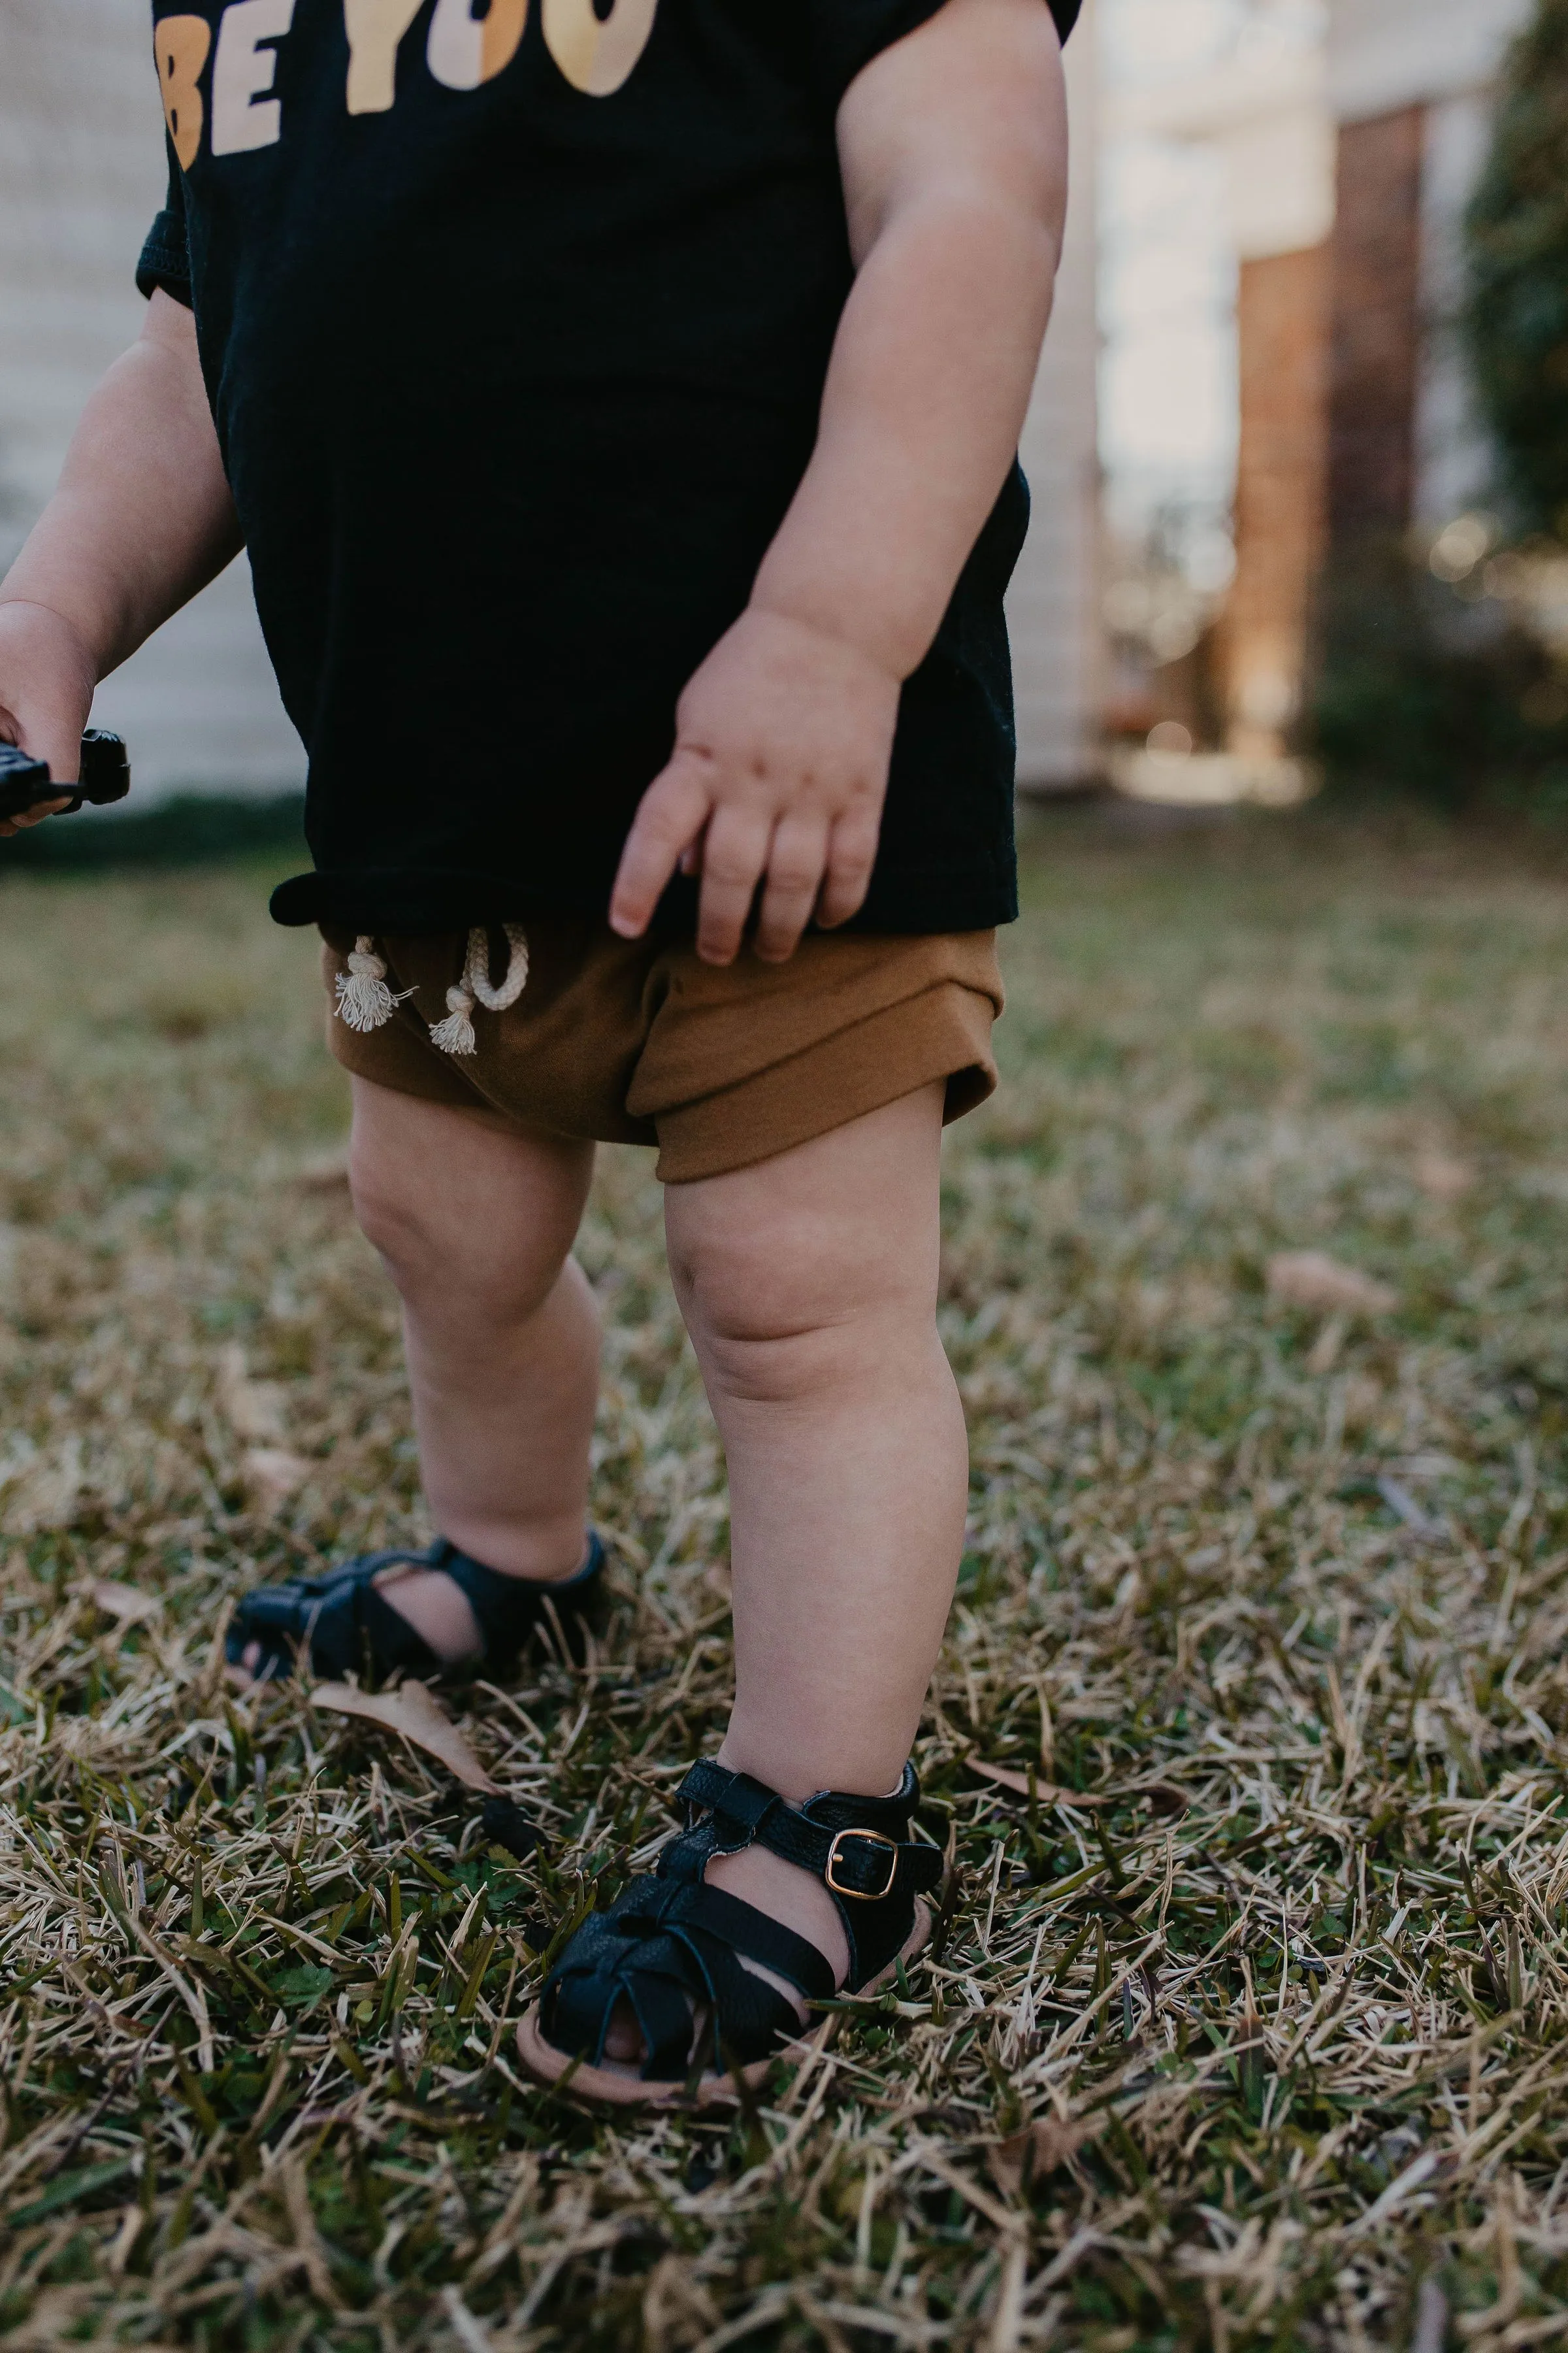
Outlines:
[[[0,0],[0,567],[59,473],[87,393],[139,334],[162,202],[148,0]],[[99,692],[139,795],[303,779],[244,565]]]

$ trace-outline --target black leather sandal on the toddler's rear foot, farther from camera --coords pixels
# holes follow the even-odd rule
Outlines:
[[[484,1649],[447,1668],[423,1635],[376,1591],[383,1569],[440,1569],[475,1614]],[[244,1652],[261,1645],[256,1682],[277,1682],[294,1673],[301,1657],[324,1682],[343,1675],[367,1675],[386,1682],[402,1668],[430,1682],[444,1673],[505,1675],[517,1664],[548,1609],[557,1612],[562,1633],[571,1638],[599,1598],[604,1581],[604,1546],[588,1539],[588,1560],[576,1577],[559,1584],[534,1584],[527,1577],[501,1577],[482,1560],[458,1553],[456,1544],[433,1544],[428,1553],[360,1553],[327,1577],[294,1577],[282,1586],[256,1586],[235,1609],[228,1626],[226,1657],[244,1668]],[[247,1671],[249,1673],[249,1671]]]

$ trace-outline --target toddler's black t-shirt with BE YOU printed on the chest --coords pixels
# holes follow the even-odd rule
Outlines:
[[[169,205],[317,871],[280,922],[602,913],[811,456],[835,113],[940,0],[155,5]],[[1051,0],[1065,33],[1079,0]],[[867,929],[1016,913],[1013,471],[903,694]],[[689,885],[668,904],[689,918]]]

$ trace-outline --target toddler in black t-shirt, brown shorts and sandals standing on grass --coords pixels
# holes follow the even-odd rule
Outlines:
[[[658,1146],[736,1706],[524,2019],[599,2101],[759,2080],[931,1925],[938,1146],[1016,913],[1074,14],[155,0],[146,332],[0,588],[0,736],[66,784],[96,682],[244,546],[310,755],[273,913],[324,941],[442,1539],[252,1593],[237,1673],[496,1675],[592,1609],[571,1245],[595,1141]]]

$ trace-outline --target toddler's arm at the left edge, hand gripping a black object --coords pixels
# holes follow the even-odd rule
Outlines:
[[[155,294],[0,584],[0,736],[75,779],[92,689],[240,553],[195,322]],[[0,835],[38,824],[45,802]]]

